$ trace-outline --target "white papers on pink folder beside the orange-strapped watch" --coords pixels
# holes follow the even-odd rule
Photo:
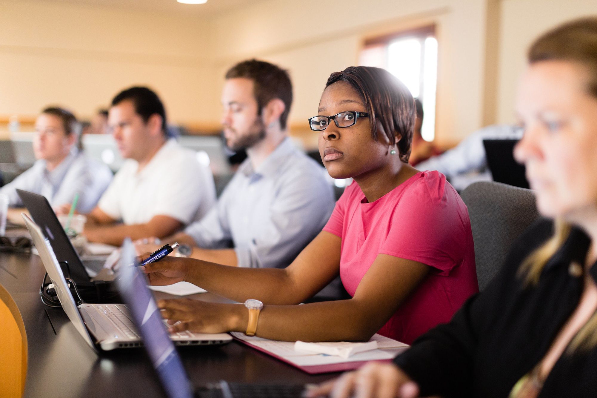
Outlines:
[[[344,362],[360,362],[371,360],[392,359],[396,356],[399,348],[407,348],[408,344],[380,336],[374,335],[370,341],[376,341],[379,348],[377,350],[365,351],[358,353],[345,359],[338,356],[330,356],[327,354],[309,353],[306,351],[295,351],[294,341],[276,341],[260,337],[250,337],[240,332],[232,332],[233,336],[238,339],[247,341],[251,345],[266,350],[267,352],[287,360],[296,366],[315,366],[315,365],[333,365],[335,363]],[[383,349],[381,349],[383,348]],[[388,350],[389,349],[389,350]]]

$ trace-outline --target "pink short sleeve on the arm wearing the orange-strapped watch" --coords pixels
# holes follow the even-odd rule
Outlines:
[[[380,253],[418,261],[449,275],[461,263],[467,236],[466,207],[443,174],[425,173],[394,209]]]

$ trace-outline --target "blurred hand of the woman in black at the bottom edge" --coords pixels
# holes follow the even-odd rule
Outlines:
[[[307,397],[416,398],[418,386],[392,363],[369,362],[361,369],[307,390]]]

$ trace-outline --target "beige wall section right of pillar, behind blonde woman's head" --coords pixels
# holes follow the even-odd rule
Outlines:
[[[595,0],[502,0],[497,120],[513,123],[516,84],[525,67],[528,46],[559,23],[597,16]]]

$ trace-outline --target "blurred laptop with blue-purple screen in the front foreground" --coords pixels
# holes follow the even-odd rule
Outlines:
[[[134,258],[134,247],[130,240],[122,245],[122,258]],[[130,260],[129,260],[130,261]],[[220,381],[213,385],[193,391],[189,376],[184,370],[179,354],[174,348],[174,339],[168,338],[168,332],[162,323],[162,317],[157,309],[152,312],[145,304],[146,297],[150,297],[145,284],[145,277],[138,268],[126,267],[127,261],[121,262],[118,289],[127,303],[133,316],[133,322],[139,327],[144,347],[152,361],[153,368],[158,373],[159,381],[166,396],[170,398],[241,398],[241,397],[301,397],[303,385],[267,385],[244,384]],[[152,307],[152,305],[154,307]],[[176,342],[176,341],[174,341]]]

